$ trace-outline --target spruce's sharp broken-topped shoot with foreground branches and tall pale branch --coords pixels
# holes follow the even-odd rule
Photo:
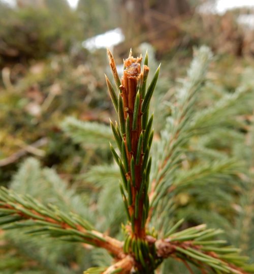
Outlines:
[[[176,103],[171,106],[171,119],[160,141],[153,147],[152,156],[149,154],[153,141],[153,115],[149,114],[149,106],[160,66],[147,85],[147,54],[142,65],[142,57],[134,58],[130,52],[124,60],[121,79],[110,51],[108,56],[116,87],[112,86],[107,76],[106,83],[118,116],[118,122],[110,122],[117,151],[112,145],[110,149],[121,175],[119,188],[127,216],[126,223],[122,224],[124,241],[100,232],[88,218],[74,213],[74,210],[66,212],[52,204],[44,205],[30,195],[20,195],[4,187],[0,190],[2,229],[23,229],[29,235],[49,235],[63,241],[79,242],[85,247],[102,248],[112,256],[112,265],[92,267],[84,274],[155,273],[168,258],[182,262],[185,272],[189,273],[252,273],[254,267],[246,264],[248,258],[239,255],[239,249],[227,246],[225,241],[216,238],[221,230],[207,229],[206,225],[181,230],[183,220],[174,224],[170,220],[172,193],[177,188],[172,180],[177,183],[174,175],[181,162],[179,148],[188,142],[199,121],[205,117],[193,119],[198,91],[211,59],[210,50],[201,47],[196,52],[188,80],[183,83]],[[243,92],[239,90],[238,93]],[[211,116],[211,112],[207,115]],[[210,167],[211,171],[205,169],[205,173],[219,172],[214,171],[218,166],[223,169],[226,165],[228,169],[231,162],[224,160],[223,164],[214,164]],[[58,180],[56,177],[54,179]],[[170,268],[165,272],[165,265],[163,271],[171,273]]]

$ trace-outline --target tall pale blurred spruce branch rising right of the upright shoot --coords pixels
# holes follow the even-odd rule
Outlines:
[[[170,170],[173,170],[173,168],[179,164],[180,154],[177,152],[189,138],[189,121],[193,118],[194,103],[198,98],[198,91],[205,79],[211,57],[211,51],[207,47],[201,47],[200,50],[197,51],[196,57],[188,70],[189,80],[185,80],[182,87],[178,90],[176,102],[174,106],[172,106],[171,120],[165,127],[167,134],[164,134],[165,136],[162,135],[160,141],[164,150],[158,152],[160,157],[158,157],[158,165],[153,174],[151,191],[149,193],[151,207],[147,223],[160,198],[164,194],[168,194],[167,181],[170,180],[167,180],[167,176]]]

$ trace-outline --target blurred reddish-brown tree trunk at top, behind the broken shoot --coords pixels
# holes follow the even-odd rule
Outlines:
[[[180,36],[179,23],[193,14],[187,0],[121,0],[121,4],[128,44],[137,46],[147,41],[158,52],[174,46]]]

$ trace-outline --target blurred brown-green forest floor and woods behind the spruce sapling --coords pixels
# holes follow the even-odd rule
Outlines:
[[[87,151],[63,138],[59,122],[75,115],[108,123],[106,47],[119,71],[131,47],[148,49],[163,62],[166,92],[184,76],[193,47],[206,44],[220,59],[213,78],[236,88],[253,61],[253,7],[251,0],[0,1],[1,182],[28,154],[68,177],[85,168]]]

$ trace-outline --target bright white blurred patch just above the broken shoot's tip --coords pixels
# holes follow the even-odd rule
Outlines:
[[[115,45],[124,41],[122,30],[118,27],[101,35],[94,36],[85,40],[82,46],[88,50],[109,48],[112,49]]]

